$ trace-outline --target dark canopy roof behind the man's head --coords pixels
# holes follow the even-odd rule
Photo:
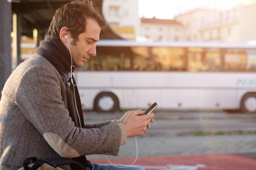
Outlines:
[[[33,29],[44,37],[56,10],[72,0],[8,0],[12,1],[12,13],[20,16],[21,34],[33,37]],[[93,0],[102,14],[103,0]],[[102,15],[103,16],[103,15]],[[104,18],[104,16],[103,16]],[[100,33],[100,39],[121,39],[110,27]]]

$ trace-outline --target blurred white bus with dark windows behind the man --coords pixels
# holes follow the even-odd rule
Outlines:
[[[100,40],[77,71],[83,109],[256,112],[256,45]]]

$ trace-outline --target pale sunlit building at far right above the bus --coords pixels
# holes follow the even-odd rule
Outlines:
[[[256,1],[218,11],[200,30],[201,41],[249,42],[256,39]]]

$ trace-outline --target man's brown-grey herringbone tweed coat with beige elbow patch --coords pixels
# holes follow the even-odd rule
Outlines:
[[[68,107],[75,114],[72,92],[48,60],[35,54],[21,63],[0,101],[0,169],[18,169],[28,157],[117,156],[126,143],[124,125],[106,121],[78,128]]]

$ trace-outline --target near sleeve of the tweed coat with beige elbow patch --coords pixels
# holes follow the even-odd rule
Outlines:
[[[34,66],[22,76],[15,102],[47,143],[62,157],[88,154],[117,156],[126,143],[122,123],[99,128],[78,128],[65,104],[66,91],[58,71],[50,66]],[[65,84],[64,84],[65,86]]]

